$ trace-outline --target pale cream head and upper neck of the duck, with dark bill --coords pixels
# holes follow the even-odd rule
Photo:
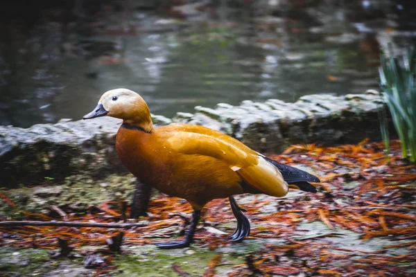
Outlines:
[[[150,111],[144,99],[130,89],[112,89],[101,96],[97,107],[83,118],[112,116],[123,119],[123,123],[141,127],[146,132],[153,129]]]

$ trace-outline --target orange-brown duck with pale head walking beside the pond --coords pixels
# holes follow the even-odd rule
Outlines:
[[[291,188],[309,193],[318,177],[286,166],[256,152],[237,139],[201,125],[153,127],[145,100],[130,89],[103,93],[98,105],[83,119],[112,116],[123,120],[116,134],[116,152],[132,175],[171,197],[185,199],[193,208],[184,239],[157,242],[161,249],[189,247],[202,208],[213,199],[227,198],[237,220],[229,239],[250,235],[250,222],[234,199],[243,193],[284,197]]]

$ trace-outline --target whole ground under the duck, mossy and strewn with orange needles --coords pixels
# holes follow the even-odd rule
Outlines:
[[[121,253],[110,253],[107,245],[119,230],[2,226],[0,271],[6,276],[415,276],[416,168],[401,159],[397,141],[390,143],[390,157],[381,143],[288,148],[280,161],[317,175],[318,193],[236,195],[252,227],[243,242],[229,242],[236,220],[228,200],[215,199],[202,210],[191,247],[157,249],[155,242],[183,238],[192,209],[183,199],[154,194],[148,217],[139,219],[143,226],[124,231]],[[123,193],[128,186],[131,193],[133,183],[131,177],[114,176],[95,191],[87,179],[1,190],[8,211],[0,206],[0,213],[7,220],[114,223],[123,217],[116,199],[130,199]],[[102,198],[94,197],[97,191]],[[73,247],[69,255],[56,255],[58,239]],[[84,260],[96,267],[89,268],[89,262],[85,268]]]

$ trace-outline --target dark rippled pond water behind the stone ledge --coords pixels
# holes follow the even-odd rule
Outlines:
[[[380,47],[416,41],[406,1],[67,2],[3,18],[0,125],[79,120],[116,87],[168,117],[218,102],[362,93],[378,88]]]

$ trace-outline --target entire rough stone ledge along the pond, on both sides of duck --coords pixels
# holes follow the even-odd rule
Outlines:
[[[347,96],[310,95],[295,103],[270,99],[239,106],[196,107],[171,120],[153,116],[155,125],[198,124],[236,137],[261,152],[281,152],[294,143],[356,143],[379,140],[376,91]],[[126,173],[114,149],[121,120],[61,120],[22,129],[0,126],[0,186],[59,184],[71,175],[103,179]]]

